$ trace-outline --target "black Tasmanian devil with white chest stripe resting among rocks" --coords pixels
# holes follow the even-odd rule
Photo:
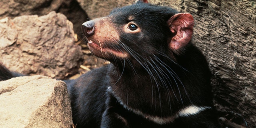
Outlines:
[[[193,26],[190,14],[147,0],[82,24],[91,52],[111,63],[66,81],[76,127],[218,128]]]

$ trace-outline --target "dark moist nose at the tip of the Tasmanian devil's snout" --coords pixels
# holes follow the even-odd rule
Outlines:
[[[92,36],[94,34],[94,30],[95,30],[94,24],[95,23],[93,20],[89,20],[82,24],[82,32],[86,37]]]

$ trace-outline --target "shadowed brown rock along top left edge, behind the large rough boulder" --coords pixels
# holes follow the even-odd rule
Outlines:
[[[81,24],[88,20],[86,12],[76,0],[1,0],[0,19],[22,15],[43,16],[52,11],[65,14],[74,24],[74,31],[82,34]]]

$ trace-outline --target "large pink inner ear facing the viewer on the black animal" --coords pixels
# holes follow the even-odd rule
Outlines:
[[[179,48],[186,46],[193,33],[194,18],[188,13],[178,13],[172,16],[167,21],[170,31],[174,34],[170,41],[169,47],[172,50],[178,50]]]

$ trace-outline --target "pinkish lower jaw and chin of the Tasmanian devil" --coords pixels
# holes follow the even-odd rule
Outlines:
[[[92,54],[103,59],[127,58],[128,54],[124,51],[108,48],[100,43],[88,40],[88,47]]]

